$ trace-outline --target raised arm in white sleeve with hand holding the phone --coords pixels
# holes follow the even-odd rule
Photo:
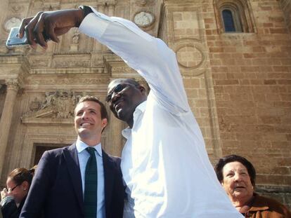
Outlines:
[[[22,20],[20,36],[25,29],[32,46],[39,43],[46,48],[43,32],[58,42],[58,35],[71,27],[79,27],[81,32],[108,46],[129,67],[138,71],[148,82],[150,95],[164,109],[173,114],[190,111],[176,54],[164,41],[143,32],[129,20],[110,18],[91,9],[93,13],[86,17],[80,9],[38,13],[34,18]]]

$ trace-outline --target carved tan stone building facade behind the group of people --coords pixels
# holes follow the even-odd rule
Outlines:
[[[30,168],[39,148],[76,139],[72,109],[84,94],[103,100],[107,84],[143,81],[108,48],[73,28],[46,53],[8,49],[9,28],[38,11],[81,1],[4,0],[0,8],[0,175]],[[85,3],[84,3],[85,4]],[[257,169],[261,193],[291,205],[291,0],[86,1],[133,20],[177,55],[190,104],[212,163],[238,154]],[[238,6],[243,32],[224,32],[221,7]],[[103,147],[120,155],[124,124],[110,114]]]

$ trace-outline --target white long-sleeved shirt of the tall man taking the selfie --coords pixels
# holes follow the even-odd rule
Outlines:
[[[242,217],[209,162],[175,53],[129,20],[93,11],[80,31],[122,57],[150,86],[132,129],[123,132],[121,168],[131,197],[124,209],[147,218]]]

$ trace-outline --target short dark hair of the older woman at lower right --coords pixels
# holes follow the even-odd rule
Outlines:
[[[245,166],[245,168],[247,168],[247,172],[250,175],[252,186],[255,186],[256,170],[254,170],[254,166],[252,165],[252,163],[250,163],[250,161],[247,161],[246,158],[235,155],[235,154],[231,154],[228,156],[224,156],[223,158],[220,158],[218,163],[216,164],[214,170],[216,172],[217,179],[219,179],[219,182],[222,182],[224,180],[224,174],[223,174],[224,165],[226,165],[227,163],[235,162],[235,161],[240,162],[241,164]]]

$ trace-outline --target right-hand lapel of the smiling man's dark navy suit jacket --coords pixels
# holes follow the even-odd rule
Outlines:
[[[102,150],[103,168],[104,168],[104,189],[105,189],[105,210],[110,210],[110,202],[112,198],[113,182],[115,177],[115,163]]]

